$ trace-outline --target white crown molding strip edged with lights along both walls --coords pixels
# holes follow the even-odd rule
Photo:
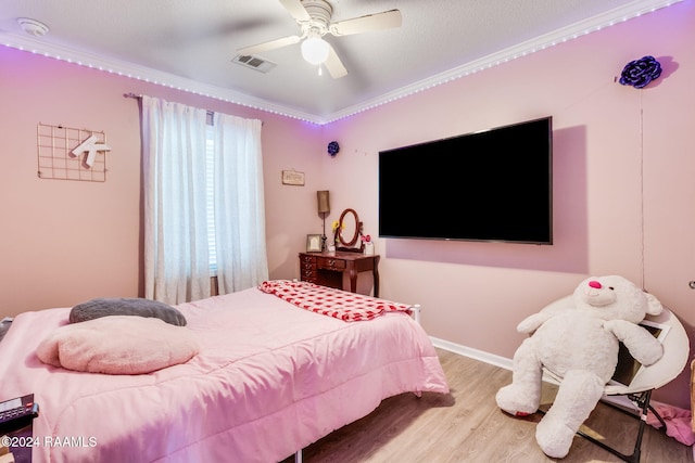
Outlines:
[[[77,51],[66,47],[46,43],[41,40],[25,35],[0,31],[0,44],[4,44],[5,47],[27,51],[30,53],[36,53],[47,57],[52,57],[55,60],[65,61],[68,63],[75,63],[80,66],[104,70],[118,76],[142,80],[163,87],[194,93],[271,114],[277,114],[285,117],[300,119],[316,125],[327,125],[350,116],[354,116],[358,113],[363,113],[365,111],[369,111],[375,107],[388,104],[394,100],[400,100],[426,91],[433,87],[441,86],[452,80],[457,80],[471,74],[485,70],[511,60],[526,56],[536,51],[545,50],[555,44],[563,43],[568,40],[573,40],[586,34],[595,33],[606,27],[623,23],[643,14],[660,10],[662,8],[671,7],[682,1],[684,0],[632,1],[623,7],[610,10],[585,21],[574,23],[568,27],[564,27],[553,33],[545,34],[514,47],[509,47],[497,53],[483,56],[479,60],[471,61],[444,73],[428,77],[427,79],[422,79],[408,86],[401,87],[371,100],[367,100],[356,105],[345,107],[327,116],[301,112],[230,89],[202,83],[192,79],[163,73],[149,67],[138,66],[131,63],[113,59],[105,59],[103,56]]]

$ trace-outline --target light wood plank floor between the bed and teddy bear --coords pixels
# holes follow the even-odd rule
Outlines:
[[[303,451],[314,462],[620,462],[582,437],[569,455],[547,458],[535,442],[539,414],[517,419],[502,412],[494,396],[511,373],[438,349],[451,395],[426,393],[392,397],[368,416],[336,430]],[[555,386],[543,386],[542,403],[552,403]],[[542,406],[544,408],[544,406]],[[623,453],[632,453],[639,421],[599,403],[582,430],[604,437]],[[282,463],[290,463],[287,459]],[[646,426],[641,462],[693,462],[692,449]]]

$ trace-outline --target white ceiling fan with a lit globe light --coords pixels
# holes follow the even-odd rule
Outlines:
[[[279,1],[296,21],[302,34],[245,47],[237,50],[240,54],[251,56],[264,51],[302,42],[302,56],[304,56],[304,60],[311,64],[324,64],[331,77],[338,79],[345,76],[348,69],[345,69],[330,43],[323,39],[326,34],[340,37],[401,27],[402,18],[399,10],[389,10],[331,23],[333,8],[326,0]]]

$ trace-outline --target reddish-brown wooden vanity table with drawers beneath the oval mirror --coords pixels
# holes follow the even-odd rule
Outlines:
[[[350,276],[350,291],[357,292],[357,275],[370,271],[374,296],[379,297],[379,256],[361,253],[300,253],[300,279],[321,286],[343,288],[343,273]]]

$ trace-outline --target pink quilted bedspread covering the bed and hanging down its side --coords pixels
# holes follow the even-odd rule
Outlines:
[[[35,463],[275,462],[387,397],[448,391],[428,336],[402,312],[345,323],[256,288],[178,308],[200,353],[132,376],[39,361],[70,309],[15,318],[0,343],[0,400],[34,393]]]

